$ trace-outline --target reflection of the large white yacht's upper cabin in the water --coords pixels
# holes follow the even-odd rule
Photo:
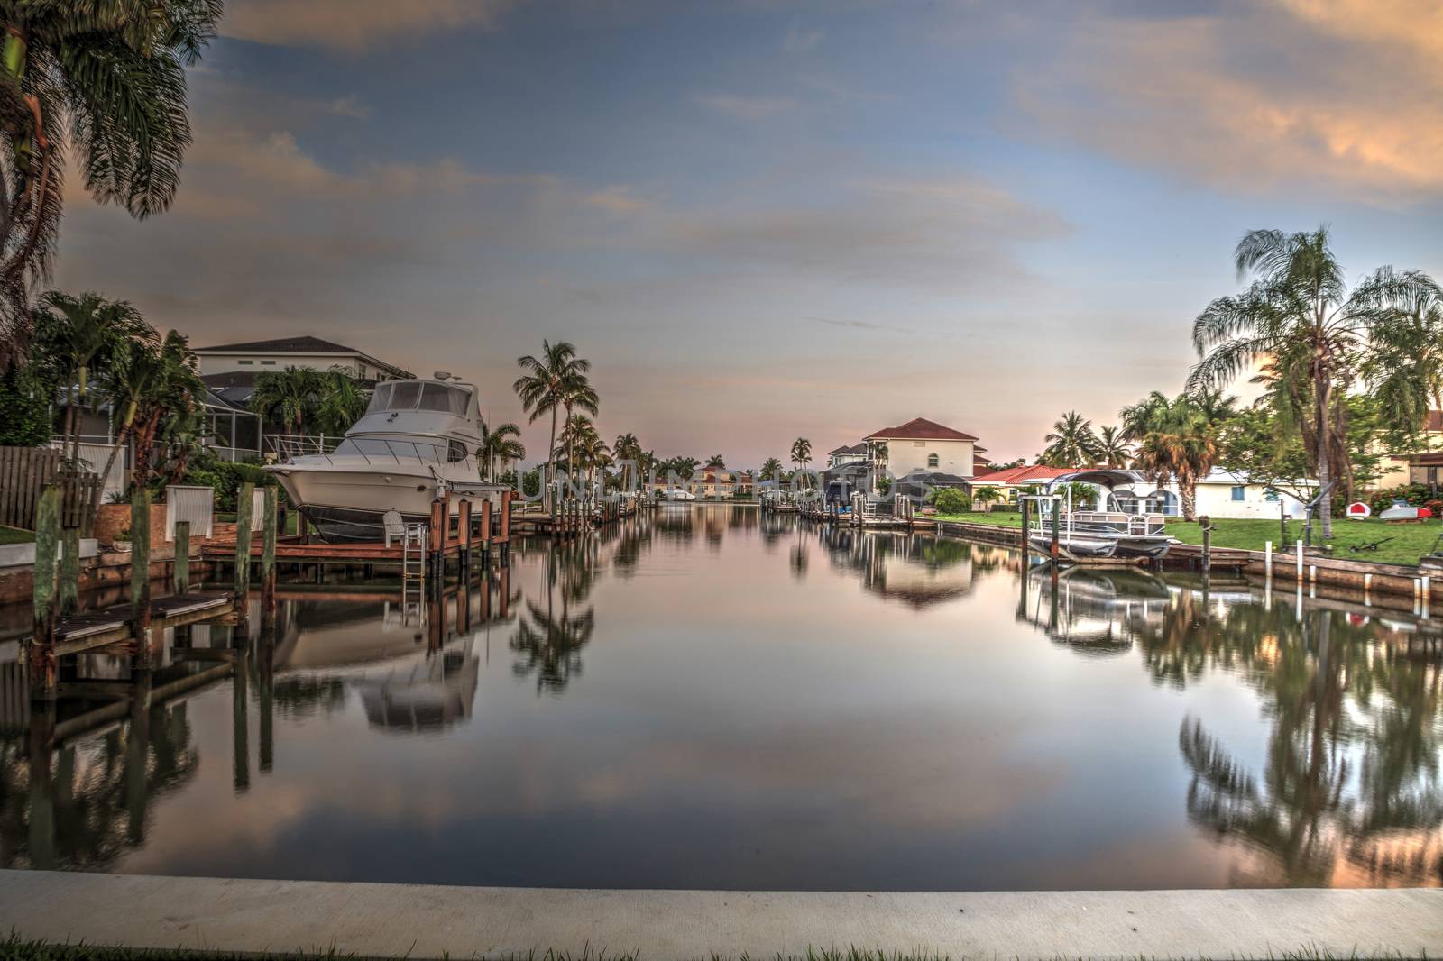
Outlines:
[[[470,717],[481,661],[472,654],[473,638],[397,667],[361,687],[365,716],[391,730],[443,730]]]

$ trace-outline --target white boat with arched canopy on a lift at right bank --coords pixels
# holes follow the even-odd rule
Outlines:
[[[1134,470],[1078,470],[1053,478],[1049,485],[1062,488],[1063,499],[1039,501],[1038,514],[1027,543],[1046,551],[1052,545],[1052,511],[1061,508],[1058,517],[1058,547],[1063,556],[1085,557],[1152,557],[1160,558],[1177,543],[1166,531],[1167,518],[1162,514],[1137,514],[1136,501],[1117,492],[1118,483],[1136,483],[1141,475]],[[1097,499],[1105,511],[1074,511],[1072,483],[1085,483],[1097,489]]]

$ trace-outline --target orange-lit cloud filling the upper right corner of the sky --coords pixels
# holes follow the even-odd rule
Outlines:
[[[1225,10],[1085,22],[1049,68],[1020,75],[1017,100],[1069,139],[1228,189],[1443,192],[1443,7]]]

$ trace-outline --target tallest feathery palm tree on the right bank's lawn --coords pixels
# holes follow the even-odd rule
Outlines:
[[[1224,387],[1257,358],[1273,358],[1278,395],[1297,416],[1320,489],[1332,489],[1338,479],[1351,486],[1348,388],[1375,351],[1401,336],[1410,309],[1439,296],[1437,284],[1421,271],[1380,267],[1349,291],[1326,227],[1250,231],[1238,241],[1234,263],[1240,281],[1254,280],[1198,315],[1192,341],[1201,361],[1188,377],[1189,388]],[[1437,394],[1437,369],[1414,377],[1431,378],[1418,388]],[[1343,478],[1335,476],[1339,466]],[[1332,511],[1320,514],[1323,537],[1332,537]]]

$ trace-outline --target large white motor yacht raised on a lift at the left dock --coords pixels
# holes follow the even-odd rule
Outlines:
[[[335,450],[281,442],[281,462],[266,469],[326,541],[380,541],[387,511],[426,521],[442,492],[452,512],[460,498],[499,505],[506,488],[482,482],[479,444],[476,388],[439,372],[378,384]]]

